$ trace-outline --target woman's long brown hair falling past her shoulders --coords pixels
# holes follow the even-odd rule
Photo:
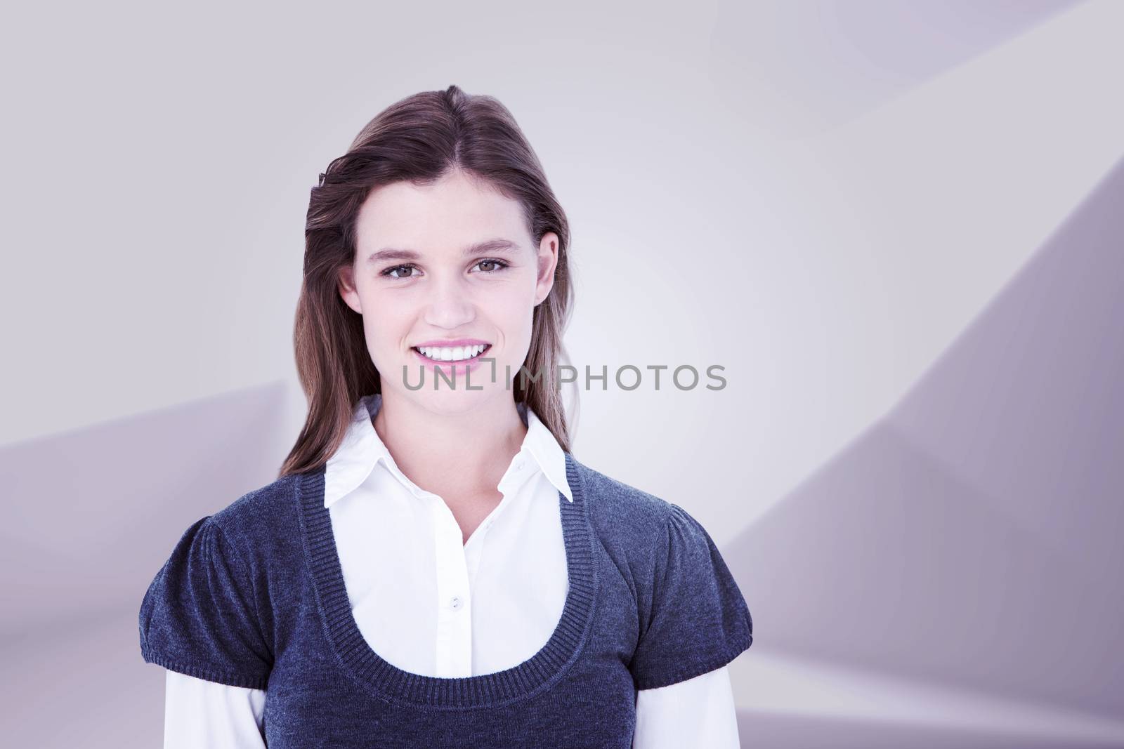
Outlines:
[[[308,417],[280,476],[315,471],[339,447],[356,401],[379,393],[379,372],[363,336],[363,319],[343,301],[338,270],[354,261],[355,218],[370,192],[398,181],[432,184],[451,170],[479,177],[523,207],[535,249],[547,231],[559,237],[554,285],[534,308],[524,363],[540,375],[514,375],[516,402],[526,403],[570,451],[556,366],[565,359],[570,284],[570,229],[538,157],[511,112],[492,97],[455,85],[402,99],[366,124],[312,188],[305,223],[305,267],[293,345]]]

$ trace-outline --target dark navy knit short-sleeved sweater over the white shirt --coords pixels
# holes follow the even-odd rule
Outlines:
[[[323,468],[279,478],[184,532],[140,604],[140,652],[265,689],[265,739],[280,749],[629,747],[636,689],[728,664],[753,642],[753,621],[683,509],[565,457],[565,606],[550,641],[518,666],[432,677],[370,648],[344,588]]]

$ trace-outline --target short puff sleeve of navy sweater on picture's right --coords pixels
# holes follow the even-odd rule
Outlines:
[[[650,605],[629,661],[637,689],[653,689],[725,666],[753,643],[753,619],[710,535],[670,505],[655,551]]]

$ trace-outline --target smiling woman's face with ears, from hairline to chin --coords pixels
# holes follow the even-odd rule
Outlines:
[[[535,245],[518,202],[460,171],[430,186],[396,182],[373,190],[355,228],[355,259],[341,268],[339,293],[363,316],[384,395],[453,412],[510,393],[508,372],[517,376],[531,347],[532,313],[554,283],[558,235],[546,232]],[[442,342],[457,358],[474,354],[472,345],[487,349],[455,364],[435,350]],[[495,358],[495,369],[481,358]]]

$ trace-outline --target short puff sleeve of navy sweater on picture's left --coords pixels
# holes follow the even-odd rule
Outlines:
[[[210,515],[180,538],[140,603],[140,655],[180,674],[264,689],[273,658],[253,586]]]

